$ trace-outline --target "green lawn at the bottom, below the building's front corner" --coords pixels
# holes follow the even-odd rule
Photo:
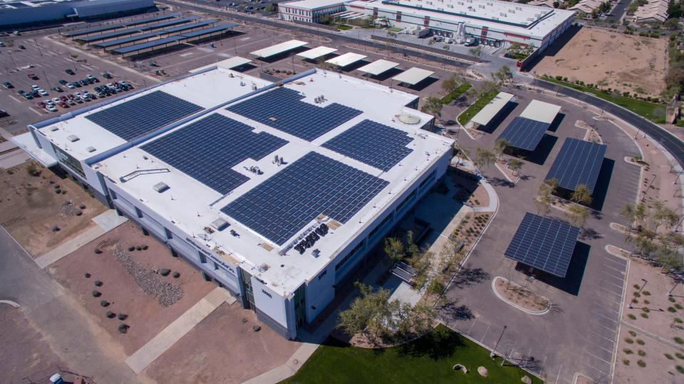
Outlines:
[[[468,373],[452,370],[455,364],[465,365]],[[480,366],[489,371],[487,378],[477,373]],[[394,348],[357,348],[328,338],[296,375],[281,383],[520,384],[524,375],[517,367],[502,367],[501,360],[489,358],[489,351],[440,325],[427,336]],[[532,383],[542,383],[529,377]]]

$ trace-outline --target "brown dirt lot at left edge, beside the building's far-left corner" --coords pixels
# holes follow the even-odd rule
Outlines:
[[[36,167],[38,176],[28,175],[26,164],[0,173],[0,225],[34,257],[95,226],[90,219],[107,209],[71,180]]]

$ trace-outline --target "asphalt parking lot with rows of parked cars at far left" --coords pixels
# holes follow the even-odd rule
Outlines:
[[[29,123],[45,120],[51,116],[66,113],[69,110],[78,109],[84,105],[76,104],[68,109],[58,107],[57,112],[51,113],[38,106],[38,103],[45,98],[59,97],[68,93],[76,93],[77,91],[83,92],[83,90],[95,93],[93,91],[95,85],[104,85],[113,81],[127,80],[133,83],[136,88],[155,81],[135,71],[128,71],[116,63],[103,61],[68,49],[54,43],[49,38],[45,38],[45,36],[46,33],[32,33],[26,36],[0,38],[0,41],[3,41],[6,45],[9,45],[9,41],[14,43],[14,46],[11,47],[0,47],[0,83],[9,81],[14,85],[12,89],[0,86],[0,95],[6,100],[3,109],[12,116],[13,120],[16,120],[16,123],[4,127],[11,133],[26,130],[26,125]],[[19,45],[26,47],[26,49],[19,48]],[[78,57],[72,58],[69,56],[71,52],[78,54]],[[29,68],[29,66],[33,67]],[[65,72],[67,68],[71,68],[76,75],[67,74]],[[110,73],[113,78],[110,80],[103,78],[103,72]],[[29,73],[34,73],[38,76],[38,80],[28,78]],[[81,80],[88,74],[99,78],[100,83],[89,84],[88,86],[75,89],[68,89],[58,83],[62,79],[68,82]],[[43,88],[49,95],[37,99],[33,98],[32,100],[26,100],[19,95],[19,90],[31,90],[32,84]],[[58,93],[51,90],[56,85],[60,85],[64,92]],[[100,99],[88,103],[97,103],[98,101]]]

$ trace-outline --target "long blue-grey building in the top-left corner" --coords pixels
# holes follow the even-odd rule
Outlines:
[[[20,28],[139,14],[155,9],[152,0],[28,0],[0,4],[0,27]]]

